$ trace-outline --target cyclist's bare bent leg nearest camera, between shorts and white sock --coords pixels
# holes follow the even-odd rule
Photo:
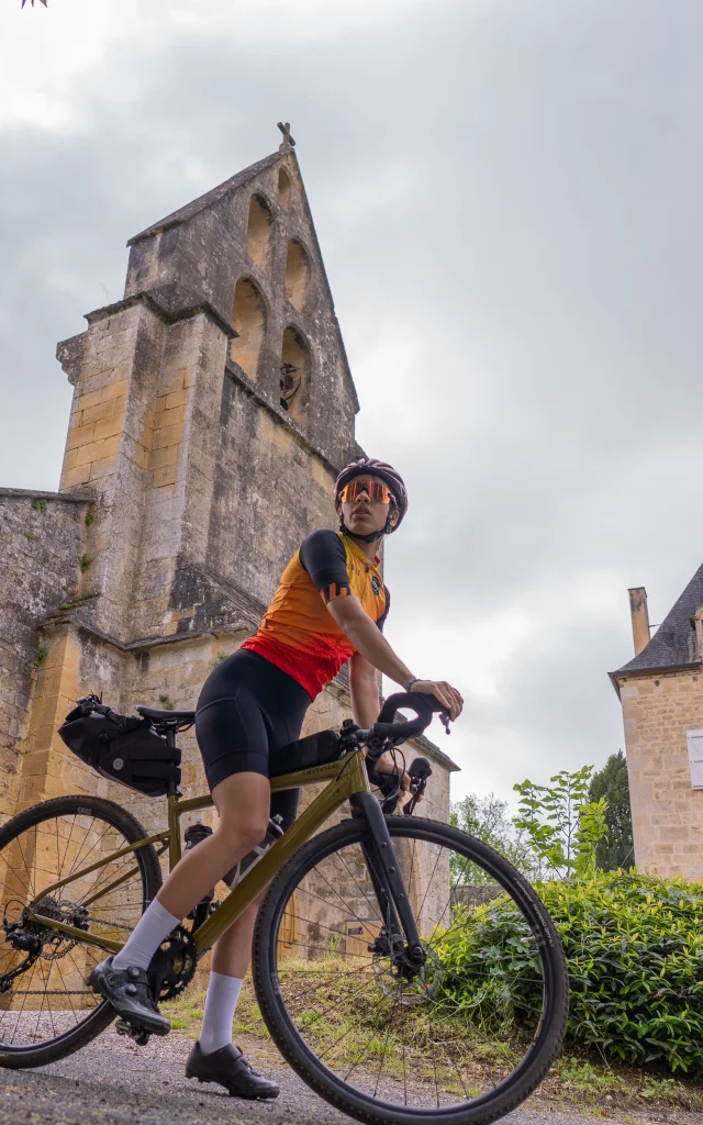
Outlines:
[[[162,907],[177,918],[184,918],[225,872],[265,836],[271,802],[268,777],[258,773],[233,774],[215,786],[213,800],[219,813],[216,830],[182,857],[156,896]],[[233,927],[243,922],[247,914]],[[247,956],[253,919],[249,927]],[[240,975],[226,969],[216,971]]]

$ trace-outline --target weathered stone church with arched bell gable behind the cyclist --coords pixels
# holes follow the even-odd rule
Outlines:
[[[193,706],[256,628],[312,530],[359,408],[289,133],[280,150],[129,241],[123,300],[58,345],[74,388],[58,493],[0,489],[0,819],[66,792],[165,812],[64,747],[72,702],[102,692]],[[306,731],[350,713],[344,675]],[[434,760],[422,810],[447,819]],[[205,791],[192,735],[183,791]],[[148,809],[146,808],[148,806]],[[162,808],[164,806],[164,808]]]

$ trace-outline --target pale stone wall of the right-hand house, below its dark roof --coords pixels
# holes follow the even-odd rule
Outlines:
[[[703,790],[691,788],[686,731],[703,728],[695,672],[623,676],[620,699],[640,871],[703,879]]]

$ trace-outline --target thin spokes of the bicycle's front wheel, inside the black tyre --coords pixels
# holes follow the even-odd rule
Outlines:
[[[279,915],[279,927],[283,917],[295,918],[289,946],[296,961],[289,972],[286,960],[280,962],[277,1002],[287,1011],[287,1026],[292,1024],[316,1059],[321,1089],[324,1076],[330,1081],[335,1076],[358,1091],[364,1106],[395,1104],[425,1125],[432,1115],[490,1095],[520,1072],[523,1059],[534,1058],[544,1030],[541,958],[548,943],[538,943],[533,922],[515,899],[517,940],[511,942],[501,939],[496,917],[502,916],[488,906],[462,907],[457,875],[461,883],[467,871],[478,868],[481,875],[478,845],[466,837],[466,855],[459,850],[453,858],[461,835],[447,829],[443,839],[442,826],[426,832],[421,826],[409,821],[405,832],[394,824],[391,839],[411,902],[417,903],[424,964],[405,960],[409,952],[399,935],[379,932],[381,920],[371,927],[359,918],[371,904],[370,875],[361,874],[368,868],[358,830],[349,828],[344,836],[341,826],[340,842],[349,843],[318,860],[310,849],[309,865],[297,876],[296,906]],[[298,897],[312,906],[301,909]],[[378,906],[372,909],[378,915]],[[358,935],[349,927],[354,919]],[[373,939],[371,951],[364,947],[367,935]],[[327,940],[340,938],[339,947],[326,948]]]

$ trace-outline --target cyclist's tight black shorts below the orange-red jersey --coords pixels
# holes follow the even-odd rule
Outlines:
[[[237,773],[269,776],[269,752],[300,737],[312,699],[270,660],[246,649],[213,669],[196,706],[196,737],[210,792]],[[298,812],[299,790],[271,793],[271,816],[283,830]]]

